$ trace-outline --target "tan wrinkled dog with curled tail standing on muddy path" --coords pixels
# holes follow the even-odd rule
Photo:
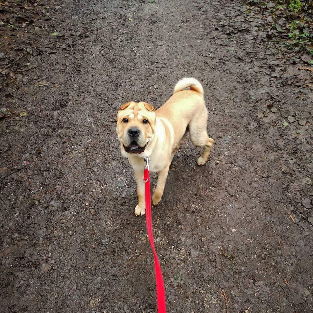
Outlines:
[[[191,90],[184,90],[187,87]],[[158,172],[152,195],[152,202],[156,205],[163,195],[172,159],[187,131],[193,145],[203,147],[198,165],[207,162],[214,142],[207,134],[207,119],[203,88],[195,78],[180,80],[171,98],[156,111],[146,102],[128,102],[120,107],[116,132],[121,142],[121,153],[128,158],[135,171],[138,195],[136,216],[146,213],[144,158],[149,157],[150,171]]]

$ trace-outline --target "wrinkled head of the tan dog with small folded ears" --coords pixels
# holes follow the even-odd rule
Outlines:
[[[146,102],[127,102],[117,113],[116,133],[121,149],[127,153],[140,154],[153,139],[156,114]]]

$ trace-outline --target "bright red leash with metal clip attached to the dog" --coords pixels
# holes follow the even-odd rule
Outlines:
[[[150,178],[149,178],[149,158],[146,159],[146,166],[143,174],[143,182],[146,183],[146,224],[147,233],[150,240],[151,249],[154,258],[154,270],[156,273],[156,299],[158,313],[166,313],[165,290],[163,283],[163,276],[159,259],[154,248],[153,232],[152,232],[152,218],[151,218],[151,194],[150,194]]]

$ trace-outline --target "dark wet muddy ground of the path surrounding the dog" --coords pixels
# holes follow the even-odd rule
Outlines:
[[[198,167],[187,140],[152,208],[168,312],[312,312],[312,72],[259,40],[262,16],[228,0],[28,7],[32,25],[1,28],[0,69],[28,52],[1,74],[1,312],[156,312],[115,116],[185,76],[215,144]]]

